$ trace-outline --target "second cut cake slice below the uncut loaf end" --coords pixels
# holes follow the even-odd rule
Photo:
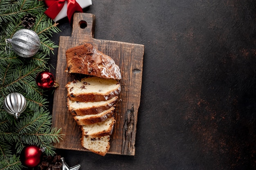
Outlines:
[[[117,102],[117,98],[118,96],[115,96],[110,100],[98,102],[79,102],[72,101],[67,98],[67,107],[73,116],[99,114],[104,110],[108,110],[110,107],[113,107]]]

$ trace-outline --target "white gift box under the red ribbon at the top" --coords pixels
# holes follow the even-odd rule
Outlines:
[[[81,8],[89,7],[92,5],[92,0],[75,0]],[[44,0],[46,7],[50,7],[52,4],[56,2],[56,0]],[[62,18],[65,18],[67,16],[67,1],[65,1],[65,4],[61,11],[59,11],[58,15],[55,18],[52,18],[54,22],[61,20]]]

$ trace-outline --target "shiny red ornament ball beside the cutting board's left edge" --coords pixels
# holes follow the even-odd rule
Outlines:
[[[55,79],[52,73],[43,71],[36,76],[36,84],[42,89],[49,89],[54,86]]]

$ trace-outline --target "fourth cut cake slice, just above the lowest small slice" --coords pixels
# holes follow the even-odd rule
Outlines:
[[[82,135],[84,135],[85,137],[94,138],[111,135],[115,123],[115,118],[110,117],[103,122],[93,123],[90,125],[81,125],[80,128],[82,131]]]

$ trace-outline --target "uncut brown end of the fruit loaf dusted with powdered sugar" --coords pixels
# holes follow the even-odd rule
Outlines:
[[[121,79],[120,69],[115,61],[89,43],[67,49],[66,60],[66,72]]]

